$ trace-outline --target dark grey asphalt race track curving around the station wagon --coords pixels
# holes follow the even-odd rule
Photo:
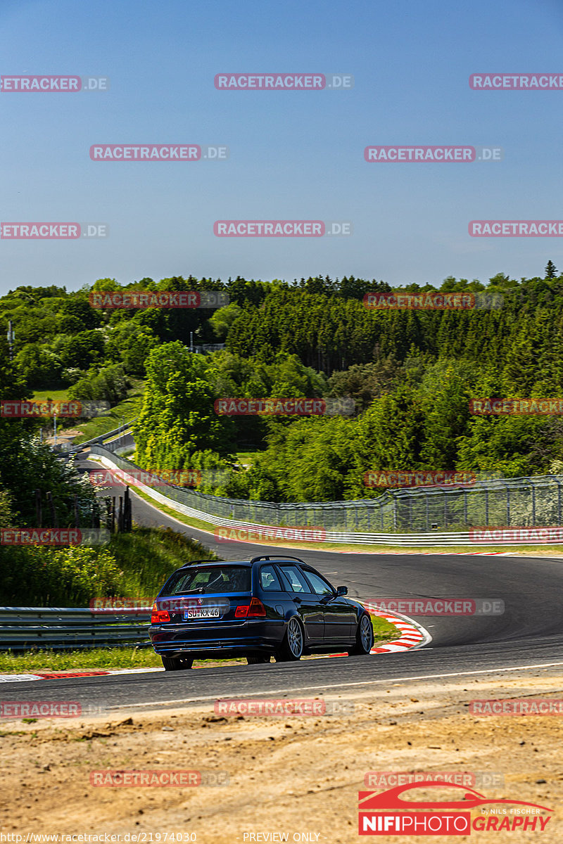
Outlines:
[[[78,462],[78,468],[96,464]],[[180,706],[217,697],[311,696],[375,690],[403,679],[511,672],[563,665],[563,560],[473,555],[338,554],[318,550],[218,543],[208,533],[176,522],[133,494],[133,519],[173,527],[221,557],[248,559],[279,553],[315,565],[357,598],[501,598],[500,616],[413,616],[429,630],[429,647],[371,657],[321,658],[300,663],[223,666],[189,672],[121,674],[3,684],[4,701],[66,700],[83,706],[134,709]],[[509,674],[510,676],[510,674]],[[115,710],[114,710],[115,711]]]

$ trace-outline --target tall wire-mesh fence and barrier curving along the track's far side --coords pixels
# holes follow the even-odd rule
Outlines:
[[[108,468],[139,477],[143,470],[104,446],[92,446]],[[438,544],[448,531],[470,527],[560,527],[563,524],[563,476],[543,475],[479,481],[471,487],[426,487],[387,491],[377,498],[348,501],[299,501],[271,504],[220,498],[173,484],[159,484],[158,490],[139,484],[154,500],[214,525],[321,527],[335,542],[375,542],[374,537],[402,534],[403,537],[433,536]],[[430,533],[435,531],[436,533]],[[343,538],[354,535],[355,539]],[[362,534],[362,536],[360,536]],[[379,540],[377,540],[379,541]],[[389,542],[388,544],[398,544]],[[401,541],[400,544],[403,544]],[[417,542],[417,544],[420,544]]]

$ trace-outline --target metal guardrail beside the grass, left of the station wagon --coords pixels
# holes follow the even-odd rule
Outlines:
[[[0,651],[53,651],[149,646],[150,613],[91,609],[0,607]]]

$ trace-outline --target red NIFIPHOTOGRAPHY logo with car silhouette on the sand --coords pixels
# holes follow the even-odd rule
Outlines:
[[[428,788],[441,788],[442,793],[451,789],[451,799],[428,800]],[[359,792],[358,800],[360,836],[468,836],[471,830],[543,832],[552,816],[540,813],[553,812],[537,803],[489,799],[473,788],[436,781],[407,783],[381,793]]]

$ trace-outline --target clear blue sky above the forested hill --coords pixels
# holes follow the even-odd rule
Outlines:
[[[0,93],[3,222],[106,223],[90,241],[0,240],[0,292],[171,275],[355,274],[439,284],[563,270],[560,238],[468,235],[563,219],[563,90],[472,91],[470,73],[563,73],[563,2],[3,0],[0,72],[106,76],[105,93]],[[350,73],[347,91],[219,91],[222,72]],[[224,144],[229,160],[94,162],[93,143]],[[369,144],[485,144],[504,160],[368,164]],[[334,238],[225,238],[217,219],[350,220]]]

